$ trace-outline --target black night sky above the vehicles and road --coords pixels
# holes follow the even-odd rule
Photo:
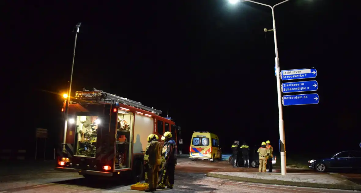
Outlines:
[[[47,128],[56,143],[72,30],[82,22],[72,95],[95,87],[164,117],[169,109],[186,152],[193,131],[218,134],[225,151],[232,140],[270,140],[277,151],[274,38],[263,31],[272,29],[270,8],[226,0],[24,2],[2,6],[1,33],[2,98],[15,123],[5,133],[20,146],[34,146],[35,128]],[[283,108],[288,154],[360,149],[357,12],[352,1],[290,0],[275,8],[281,70],[316,68],[319,83],[319,104]]]

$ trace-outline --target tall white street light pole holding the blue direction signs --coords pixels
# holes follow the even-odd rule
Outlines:
[[[279,56],[278,56],[278,48],[277,48],[277,37],[276,37],[276,23],[274,20],[274,8],[277,5],[285,3],[289,0],[282,1],[281,3],[275,4],[273,6],[267,5],[264,3],[259,3],[252,0],[244,0],[260,5],[264,5],[270,7],[272,10],[272,23],[273,23],[273,36],[274,36],[274,51],[275,51],[275,63],[276,63],[276,77],[277,77],[277,96],[278,96],[278,116],[279,116],[279,139],[280,139],[280,154],[281,154],[281,172],[282,175],[286,175],[286,144],[284,142],[284,124],[283,124],[283,111],[282,111],[282,90],[281,90],[281,80],[280,80],[280,70],[279,70]]]

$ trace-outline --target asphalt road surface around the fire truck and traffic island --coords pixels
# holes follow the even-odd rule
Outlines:
[[[206,160],[192,162],[189,158],[178,160],[173,190],[165,189],[157,192],[355,192],[331,189],[303,188],[295,186],[265,185],[244,183],[232,180],[218,179],[205,176],[209,171],[248,171],[257,172],[256,168],[232,168],[226,161],[210,163]],[[73,192],[137,192],[130,190],[132,183],[123,180],[91,181],[78,173],[44,171],[36,173],[23,171],[13,175],[0,174],[0,193],[8,192],[36,192],[36,193],[73,193]]]

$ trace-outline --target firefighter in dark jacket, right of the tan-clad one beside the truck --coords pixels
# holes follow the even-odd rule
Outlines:
[[[175,166],[177,165],[177,147],[175,141],[173,140],[172,133],[169,131],[163,134],[161,140],[164,141],[162,152],[165,152],[165,163],[160,174],[160,182],[157,189],[164,189],[165,186],[169,189],[173,189],[174,171]],[[167,178],[169,183],[166,183]]]

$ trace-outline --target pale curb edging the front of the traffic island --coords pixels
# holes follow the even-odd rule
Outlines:
[[[251,183],[261,183],[261,184],[276,184],[276,185],[287,185],[287,186],[303,186],[310,188],[328,188],[328,189],[342,189],[342,190],[361,190],[361,186],[349,181],[345,184],[318,184],[318,183],[307,183],[307,182],[295,182],[295,181],[285,181],[285,180],[264,180],[248,177],[238,177],[231,175],[223,175],[218,173],[208,172],[208,177],[217,177],[227,180],[236,180],[236,181],[245,181]]]

